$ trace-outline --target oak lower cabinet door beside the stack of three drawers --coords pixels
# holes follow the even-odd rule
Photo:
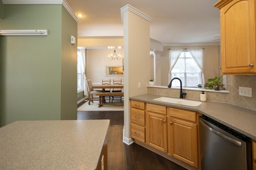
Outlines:
[[[166,116],[147,112],[146,144],[167,153]]]

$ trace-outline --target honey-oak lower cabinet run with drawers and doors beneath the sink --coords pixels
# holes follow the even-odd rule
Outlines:
[[[200,169],[198,115],[194,111],[131,100],[131,137],[157,150],[156,153],[160,151]]]

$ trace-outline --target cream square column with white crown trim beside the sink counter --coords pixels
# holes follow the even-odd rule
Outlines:
[[[133,143],[130,134],[129,97],[147,93],[150,72],[150,21],[152,18],[129,4],[121,8],[124,24],[124,131],[123,142]],[[138,88],[138,83],[141,88]]]

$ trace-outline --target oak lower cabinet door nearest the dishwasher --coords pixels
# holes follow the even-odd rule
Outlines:
[[[168,154],[198,168],[196,124],[168,117]]]

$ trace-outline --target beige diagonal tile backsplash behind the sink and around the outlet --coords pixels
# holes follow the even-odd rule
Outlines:
[[[256,75],[227,75],[226,90],[229,93],[206,92],[207,101],[224,102],[247,109],[256,110]],[[252,98],[239,96],[239,86],[252,88]],[[187,93],[185,98],[200,100],[201,91],[183,90]],[[179,97],[179,89],[148,87],[149,94]]]

